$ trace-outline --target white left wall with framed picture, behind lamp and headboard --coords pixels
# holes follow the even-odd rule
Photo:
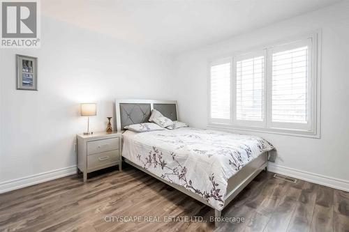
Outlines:
[[[57,175],[28,176],[76,170],[68,168],[76,165],[75,134],[87,129],[79,102],[97,102],[91,128],[101,131],[114,116],[114,98],[174,99],[168,56],[47,17],[41,22],[40,49],[0,49],[0,192]],[[38,91],[15,89],[15,54],[38,57]]]

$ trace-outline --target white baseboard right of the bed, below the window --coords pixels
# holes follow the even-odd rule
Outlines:
[[[342,180],[339,178],[333,178],[329,176],[322,176],[320,174],[311,173],[308,171],[301,171],[298,169],[292,169],[289,167],[283,167],[278,164],[274,164],[269,162],[268,171],[272,171],[274,173],[278,173],[284,176],[290,176],[300,180],[306,180],[311,183],[325,185],[327,187],[333,187],[337,190],[343,190],[349,192],[349,181]]]

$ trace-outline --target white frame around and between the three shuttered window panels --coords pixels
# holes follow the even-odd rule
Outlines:
[[[309,55],[311,55],[311,61],[309,61],[309,72],[311,75],[309,76],[308,81],[311,84],[308,85],[308,94],[311,96],[311,100],[307,101],[307,116],[308,109],[310,113],[310,125],[306,127],[306,129],[302,127],[297,127],[295,124],[299,123],[291,123],[292,127],[288,127],[288,123],[272,123],[272,52],[281,47],[287,47],[295,45],[296,43],[302,42],[304,40],[311,40],[311,47],[309,51]],[[265,82],[264,82],[264,102],[263,106],[265,111],[264,113],[264,121],[263,123],[251,123],[254,121],[241,121],[236,119],[236,62],[235,58],[239,56],[251,56],[255,52],[261,52],[265,50]],[[285,50],[285,49],[281,49]],[[254,49],[246,49],[248,52],[236,52],[232,54],[226,54],[223,56],[225,59],[230,57],[231,59],[231,72],[230,72],[230,120],[229,121],[212,121],[209,117],[208,127],[216,127],[222,129],[232,129],[232,130],[242,130],[242,131],[251,131],[251,132],[267,132],[272,134],[285,134],[290,136],[299,136],[299,137],[312,137],[312,138],[320,138],[320,70],[321,70],[321,30],[311,31],[309,33],[303,33],[297,36],[292,36],[289,38],[285,38],[283,40],[279,40],[279,42],[271,42],[269,45],[264,45],[260,47],[255,47]],[[222,57],[222,56],[221,56]],[[211,63],[217,61],[218,59],[213,59],[209,62],[209,71],[211,67]],[[309,59],[310,60],[310,59]],[[208,76],[208,82],[210,84],[210,72]],[[211,115],[210,109],[210,86],[208,88],[208,98],[209,98],[209,107],[208,114]]]

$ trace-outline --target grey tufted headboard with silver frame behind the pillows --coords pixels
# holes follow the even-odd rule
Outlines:
[[[126,125],[149,122],[152,109],[172,121],[178,120],[177,101],[116,99],[117,131],[124,130]]]

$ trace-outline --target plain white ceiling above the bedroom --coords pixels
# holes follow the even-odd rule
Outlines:
[[[339,0],[45,0],[43,15],[159,52],[225,40]]]

